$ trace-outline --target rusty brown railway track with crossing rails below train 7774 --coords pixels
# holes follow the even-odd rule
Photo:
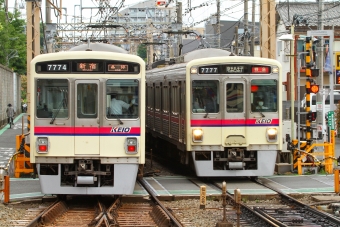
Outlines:
[[[123,203],[121,197],[89,196],[59,200],[46,209],[28,210],[24,219],[13,221],[14,226],[166,226],[163,224],[167,222],[167,216],[151,202]]]

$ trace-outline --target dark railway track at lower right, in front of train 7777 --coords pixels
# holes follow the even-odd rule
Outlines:
[[[240,226],[306,226],[306,227],[323,227],[323,226],[340,226],[340,219],[325,212],[314,209],[293,197],[286,195],[279,190],[255,181],[264,187],[275,191],[278,199],[271,204],[245,204],[237,202],[235,195],[227,194],[227,200],[234,209],[239,209]],[[221,184],[215,184],[222,190]],[[237,222],[235,215],[229,214],[230,220]]]

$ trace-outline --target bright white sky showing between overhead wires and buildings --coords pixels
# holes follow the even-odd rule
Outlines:
[[[19,6],[26,6],[25,0],[16,0],[18,2]],[[79,5],[81,0],[50,0],[51,2],[54,2],[55,4],[60,5],[60,1],[62,1],[62,7],[67,8],[67,14],[69,15],[67,17],[67,22],[71,23],[73,21],[73,15],[79,15]],[[119,5],[122,0],[107,0],[110,2],[111,6]],[[169,1],[169,0],[165,0]],[[177,0],[180,1],[180,0]],[[182,20],[184,23],[184,26],[194,26],[194,27],[203,27],[204,22],[207,18],[209,18],[212,14],[215,14],[217,12],[217,6],[216,6],[217,0],[182,0]],[[42,9],[43,9],[43,15],[45,15],[45,6],[46,0],[42,0]],[[138,2],[143,2],[139,0],[125,0],[124,1],[124,7],[127,8],[129,6],[133,6],[134,4]],[[156,0],[155,0],[156,2]],[[176,0],[172,0],[172,4],[176,2]],[[14,8],[14,0],[9,1],[9,10],[13,10]],[[256,13],[259,12],[259,0],[256,0]],[[83,7],[97,7],[98,0],[82,0],[82,6]],[[191,11],[189,12],[188,9],[191,8]],[[249,1],[248,3],[249,13],[248,13],[248,19],[251,21],[251,9],[252,9],[252,2]],[[74,10],[76,13],[74,14]],[[21,9],[22,14],[25,14],[25,9]],[[244,4],[242,0],[220,0],[220,12],[221,12],[221,20],[229,20],[229,21],[238,21],[243,20],[243,12],[244,12]],[[52,14],[53,15],[53,14]],[[65,20],[64,15],[64,20]],[[43,16],[44,17],[44,16]],[[86,20],[86,16],[84,19]],[[259,15],[256,14],[256,21],[258,21]],[[52,16],[52,22],[57,22],[56,17]]]

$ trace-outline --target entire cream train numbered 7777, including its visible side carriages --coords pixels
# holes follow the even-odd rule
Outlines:
[[[147,70],[147,144],[199,177],[272,175],[282,150],[281,65],[229,55],[202,49]]]

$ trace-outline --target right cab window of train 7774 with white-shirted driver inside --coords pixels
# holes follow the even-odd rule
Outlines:
[[[106,82],[106,117],[108,119],[138,118],[139,81],[110,79]]]

